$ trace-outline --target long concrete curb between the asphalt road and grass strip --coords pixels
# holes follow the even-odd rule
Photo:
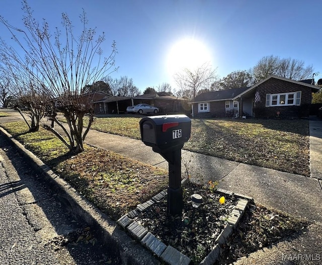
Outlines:
[[[141,244],[130,238],[117,223],[99,211],[86,198],[79,195],[69,184],[60,179],[48,165],[27,150],[12,135],[0,127],[0,133],[31,162],[53,193],[70,210],[75,219],[82,219],[94,230],[95,236],[104,240],[109,249],[117,253],[122,264],[158,264],[159,261]]]

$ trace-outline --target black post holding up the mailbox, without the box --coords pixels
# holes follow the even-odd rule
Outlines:
[[[182,215],[181,148],[162,154],[169,162],[168,214]]]

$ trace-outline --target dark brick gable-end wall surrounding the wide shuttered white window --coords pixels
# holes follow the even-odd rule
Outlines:
[[[257,86],[261,101],[256,103],[255,117],[276,118],[280,112],[280,118],[307,117],[309,115],[309,105],[312,101],[311,89],[307,86],[292,82],[270,78],[266,82]],[[266,107],[266,94],[280,94],[301,91],[301,106],[276,106]]]

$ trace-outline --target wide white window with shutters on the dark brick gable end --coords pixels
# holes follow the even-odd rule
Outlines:
[[[295,97],[296,95],[296,97]],[[290,106],[301,104],[301,92],[266,94],[266,107]]]

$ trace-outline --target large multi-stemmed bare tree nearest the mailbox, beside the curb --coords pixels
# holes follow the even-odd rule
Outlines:
[[[40,25],[33,18],[26,0],[23,1],[23,10],[25,30],[13,27],[3,17],[0,17],[0,22],[25,52],[26,60],[20,62],[22,67],[25,68],[26,62],[29,62],[34,69],[31,73],[37,73],[35,78],[40,75],[38,82],[42,82],[42,89],[50,93],[51,100],[47,103],[51,108],[48,114],[64,130],[68,141],[54,128],[46,128],[71,151],[83,151],[85,137],[93,122],[92,98],[87,96],[88,84],[116,70],[115,42],[112,43],[109,55],[102,58],[101,45],[105,41],[105,34],[96,37],[95,28],[87,28],[88,20],[84,10],[80,16],[82,32],[78,37],[74,36],[72,23],[65,13],[62,14],[62,30],[56,28],[52,35],[46,20]],[[63,113],[68,129],[58,121],[57,112]],[[89,123],[83,132],[85,115],[89,116]]]

